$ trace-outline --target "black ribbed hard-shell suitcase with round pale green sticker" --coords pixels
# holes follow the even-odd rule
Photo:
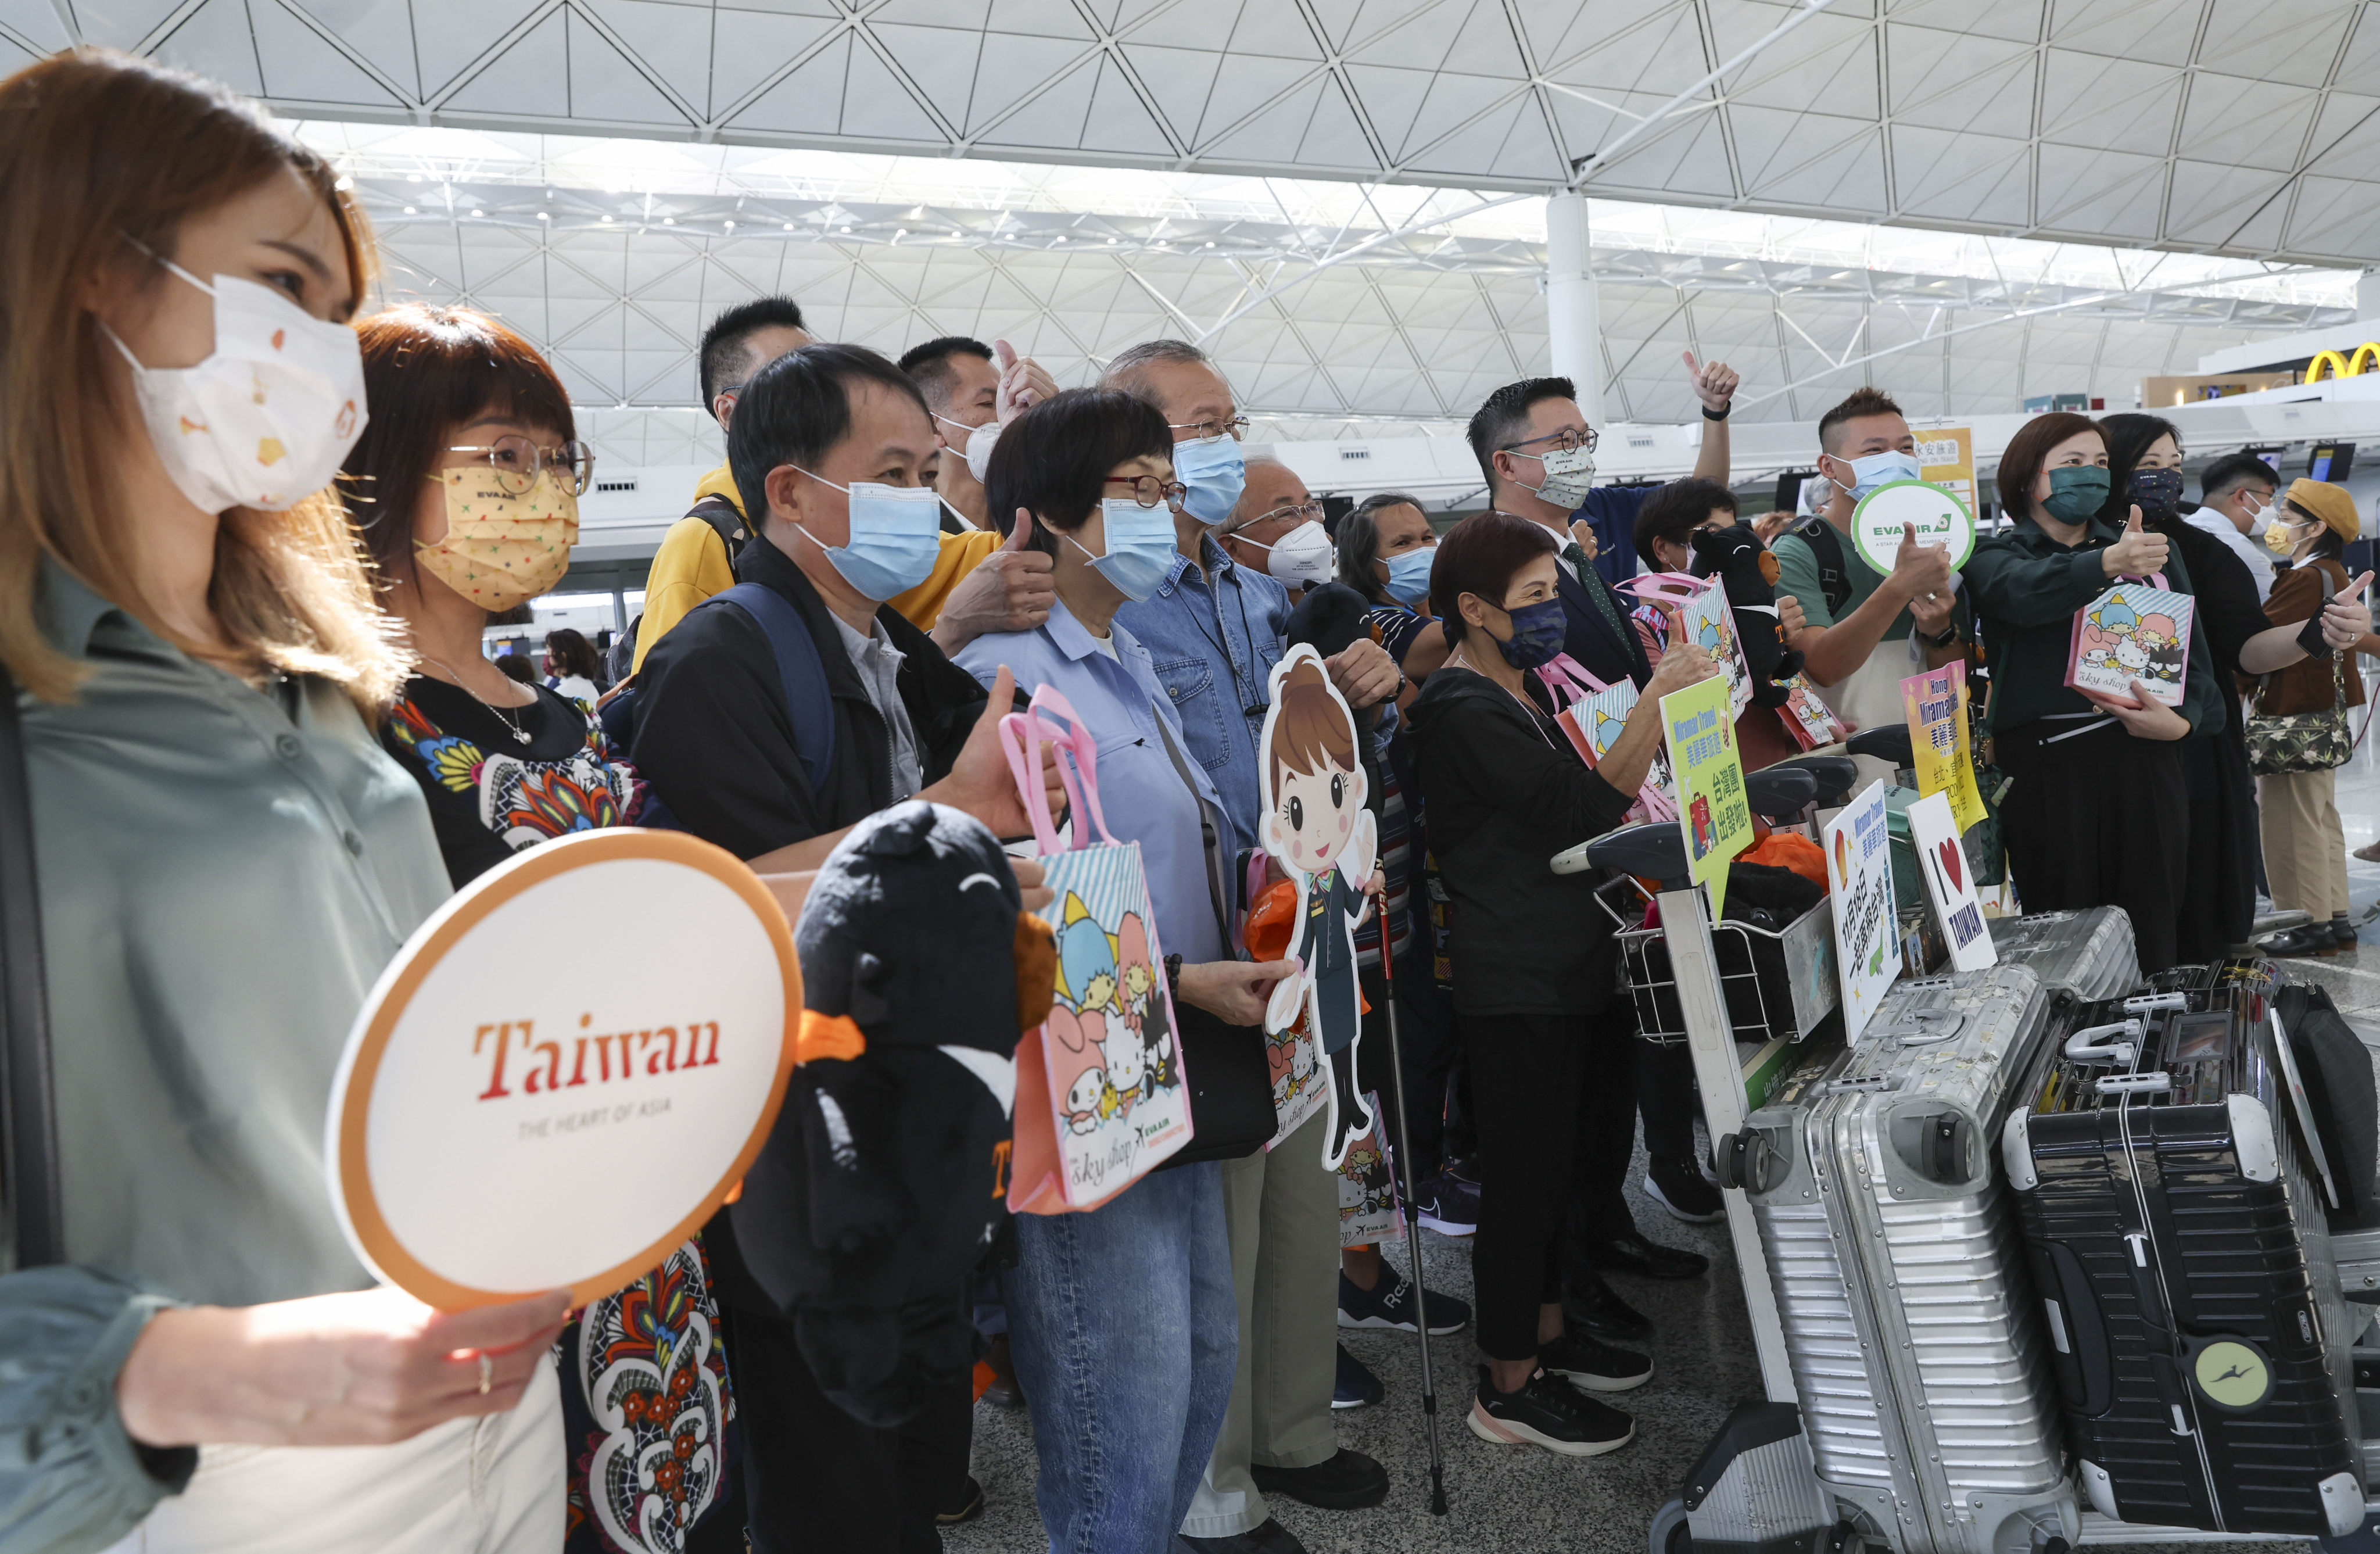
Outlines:
[[[2002,1135],[2075,1473],[2121,1521],[2363,1523],[2361,1314],[2275,988],[2268,961],[2225,961],[2085,1007]]]

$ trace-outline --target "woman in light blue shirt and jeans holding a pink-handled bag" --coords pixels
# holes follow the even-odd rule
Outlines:
[[[1109,390],[1071,390],[1009,421],[985,488],[1002,533],[1054,559],[1033,631],[983,635],[957,662],[985,685],[1059,690],[1100,742],[1100,802],[1140,842],[1178,1004],[1228,1026],[1264,1016],[1290,964],[1230,959],[1238,835],[1190,757],[1147,650],[1116,626],[1173,564],[1173,433]],[[1214,1161],[1159,1168],[1090,1214],[1016,1218],[1004,1280],[1016,1376],[1033,1399],[1052,1554],[1166,1554],[1230,1399],[1238,1304]]]

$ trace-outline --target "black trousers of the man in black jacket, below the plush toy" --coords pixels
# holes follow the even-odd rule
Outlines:
[[[940,1554],[935,1511],[966,1504],[971,1383],[876,1430],[819,1392],[790,1321],[750,1307],[724,1318],[752,1554]]]

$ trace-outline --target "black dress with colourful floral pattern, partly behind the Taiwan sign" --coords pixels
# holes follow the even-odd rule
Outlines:
[[[414,676],[381,742],[421,783],[457,888],[524,847],[631,823],[645,800],[593,712],[545,688],[528,707],[497,712]],[[702,1237],[574,1316],[555,1361],[571,1502],[564,1552],[740,1549],[743,1504],[721,1492],[733,1395]]]

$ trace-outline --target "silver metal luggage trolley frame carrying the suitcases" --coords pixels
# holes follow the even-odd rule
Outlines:
[[[1764,776],[1752,773],[1747,788],[1759,795]],[[1771,802],[1775,797],[1778,790],[1771,790]],[[1790,804],[1768,809],[1754,800],[1754,809],[1783,814]],[[1704,1118],[1714,1145],[1742,1135],[1747,1116],[1756,1107],[1747,1095],[1747,1080],[1766,1090],[1785,1064],[1778,1064],[1766,1045],[1752,1064],[1745,1061],[1737,1045],[1740,1011],[1728,997],[1726,959],[1709,921],[1704,892],[1685,881],[1685,842],[1678,826],[1654,823],[1616,831],[1573,847],[1554,859],[1554,866],[1561,871],[1611,869],[1659,883],[1652,900],[1661,911],[1656,933],[1668,957],[1664,992],[1676,1002],[1678,1023],[1695,1059]],[[2030,973],[2023,976],[2030,978]],[[1916,980],[1928,988],[1944,985],[1940,978]],[[1721,1176],[1740,1180],[1737,1173],[1726,1171],[1726,1164]],[[1704,1547],[1726,1544],[1730,1554],[1840,1554],[1864,1542],[1892,1547],[1897,1554],[1952,1554],[1954,1549],[1956,1554],[2068,1554],[2073,1544],[2294,1542],[2304,1537],[2301,1533],[2204,1533],[2118,1523],[2090,1509],[2080,1492],[2071,1492],[2071,1499],[2061,1495],[2056,1504],[2042,1504],[2030,1521],[2009,1516],[1997,1528],[1971,1525],[1966,1537],[1959,1528],[1928,1528],[1925,1518],[1916,1518],[1916,1525],[1904,1525],[1899,1533],[1878,1533],[1873,1518],[1866,1528],[1854,1525],[1837,1504],[1835,1490],[1818,1480],[1759,1221],[1740,1188],[1730,1185],[1723,1197],[1766,1402],[1737,1406],[1709,1442],[1687,1478],[1687,1495],[1661,1506],[1654,1516],[1652,1554],[1695,1554],[1697,1528]],[[2375,1245],[2368,1249],[2361,1245],[2340,1247],[2342,1273],[2351,1268],[2349,1287],[2359,1283],[2380,1287],[2380,1233],[2373,1233],[2370,1240]],[[2359,1383],[2366,1387],[2359,1399],[2368,1416],[2363,1433],[2380,1437],[2380,1354],[2366,1349],[2356,1354],[2356,1361]],[[1856,1385],[1856,1378],[1849,1380]],[[2054,1414],[2054,1395],[2042,1402]],[[1821,1399],[1823,1404],[1825,1399]],[[2363,1456],[2373,1468],[2380,1468],[2380,1440],[2366,1440]],[[2373,1509],[2380,1511],[2380,1506]],[[2366,1521],[2366,1533],[2356,1537],[2368,1537],[2370,1525]]]

